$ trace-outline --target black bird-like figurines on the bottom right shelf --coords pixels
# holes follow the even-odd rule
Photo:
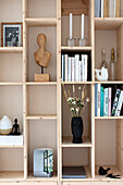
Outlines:
[[[102,166],[99,168],[99,174],[100,175],[107,175],[106,177],[110,177],[110,178],[121,178],[121,175],[114,175],[113,173],[108,174],[108,171],[111,170],[110,168],[108,169],[103,169]]]

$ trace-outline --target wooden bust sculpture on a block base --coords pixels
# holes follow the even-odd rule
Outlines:
[[[36,63],[41,66],[41,74],[35,74],[35,81],[37,78],[42,81],[48,81],[49,74],[44,74],[44,67],[47,67],[51,58],[51,52],[46,50],[47,37],[44,34],[39,34],[37,37],[37,44],[39,49],[34,53]]]

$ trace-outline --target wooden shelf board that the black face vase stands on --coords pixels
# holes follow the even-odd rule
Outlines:
[[[93,145],[87,137],[83,138],[83,144],[73,144],[72,137],[69,136],[64,136],[62,141],[62,147],[66,147],[66,148],[91,147],[91,146]]]

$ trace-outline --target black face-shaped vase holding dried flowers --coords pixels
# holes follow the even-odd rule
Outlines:
[[[83,120],[81,116],[72,118],[72,134],[73,134],[73,144],[82,144],[82,135],[83,135]]]

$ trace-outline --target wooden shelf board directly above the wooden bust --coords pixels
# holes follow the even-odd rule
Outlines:
[[[57,18],[44,17],[44,18],[25,18],[28,26],[57,26]]]

